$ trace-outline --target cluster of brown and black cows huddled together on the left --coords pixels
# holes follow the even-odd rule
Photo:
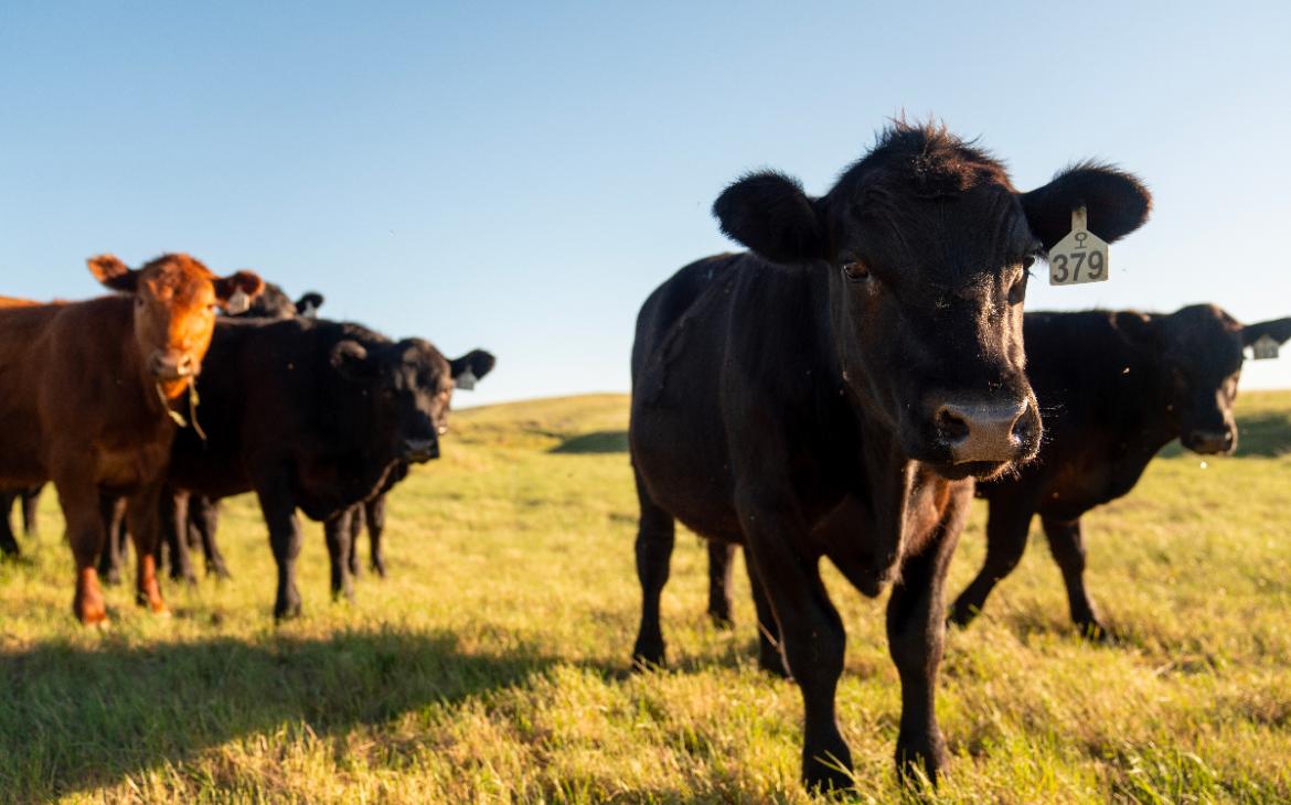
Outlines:
[[[293,303],[263,293],[256,273],[218,277],[186,254],[137,270],[103,255],[89,267],[117,293],[0,301],[4,502],[22,498],[30,511],[53,482],[76,562],[74,614],[107,618],[99,571],[119,574],[124,534],[137,599],[154,611],[165,611],[163,534],[174,575],[191,574],[190,532],[208,568],[227,573],[216,506],[244,492],[269,526],[276,617],[301,610],[297,511],[325,524],[333,590],[350,592],[351,511],[369,512],[380,533],[382,495],[411,463],[439,455],[454,384],[488,374],[493,356],[448,360],[420,338],[315,319],[320,295]],[[0,528],[0,547],[15,552],[8,517]]]

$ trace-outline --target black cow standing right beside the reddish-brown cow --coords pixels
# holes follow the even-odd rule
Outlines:
[[[453,378],[493,356],[448,361],[430,343],[355,324],[223,320],[203,361],[199,419],[176,439],[169,480],[219,499],[254,490],[278,562],[278,618],[300,613],[296,510],[334,519],[386,488],[405,463],[439,455]],[[333,561],[345,564],[349,546]]]

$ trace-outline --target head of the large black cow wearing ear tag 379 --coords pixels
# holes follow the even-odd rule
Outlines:
[[[759,173],[727,188],[714,213],[766,259],[828,273],[842,381],[908,458],[946,477],[990,477],[1039,449],[1022,350],[1028,270],[1082,205],[1112,241],[1143,223],[1149,196],[1096,166],[1019,194],[986,154],[942,129],[897,125],[825,196]]]

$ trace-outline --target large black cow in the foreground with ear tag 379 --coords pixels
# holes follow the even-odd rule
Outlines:
[[[640,502],[639,666],[665,658],[660,593],[674,519],[749,548],[750,575],[806,710],[803,777],[847,787],[834,716],[843,623],[829,557],[866,595],[893,582],[897,768],[936,779],[933,708],[945,568],[971,477],[1028,461],[1041,421],[1024,373],[1033,258],[1088,209],[1115,240],[1149,195],[1081,165],[1028,194],[945,130],[897,124],[824,196],[755,173],[722,194],[722,228],[754,254],[682,268],[640,311],[629,442]]]

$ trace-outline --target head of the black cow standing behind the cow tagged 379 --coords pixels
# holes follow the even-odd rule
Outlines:
[[[1152,352],[1166,374],[1167,415],[1179,441],[1194,453],[1237,449],[1233,402],[1243,347],[1261,335],[1291,338],[1291,319],[1242,326],[1215,304],[1192,304],[1168,316],[1117,313],[1117,328]]]

